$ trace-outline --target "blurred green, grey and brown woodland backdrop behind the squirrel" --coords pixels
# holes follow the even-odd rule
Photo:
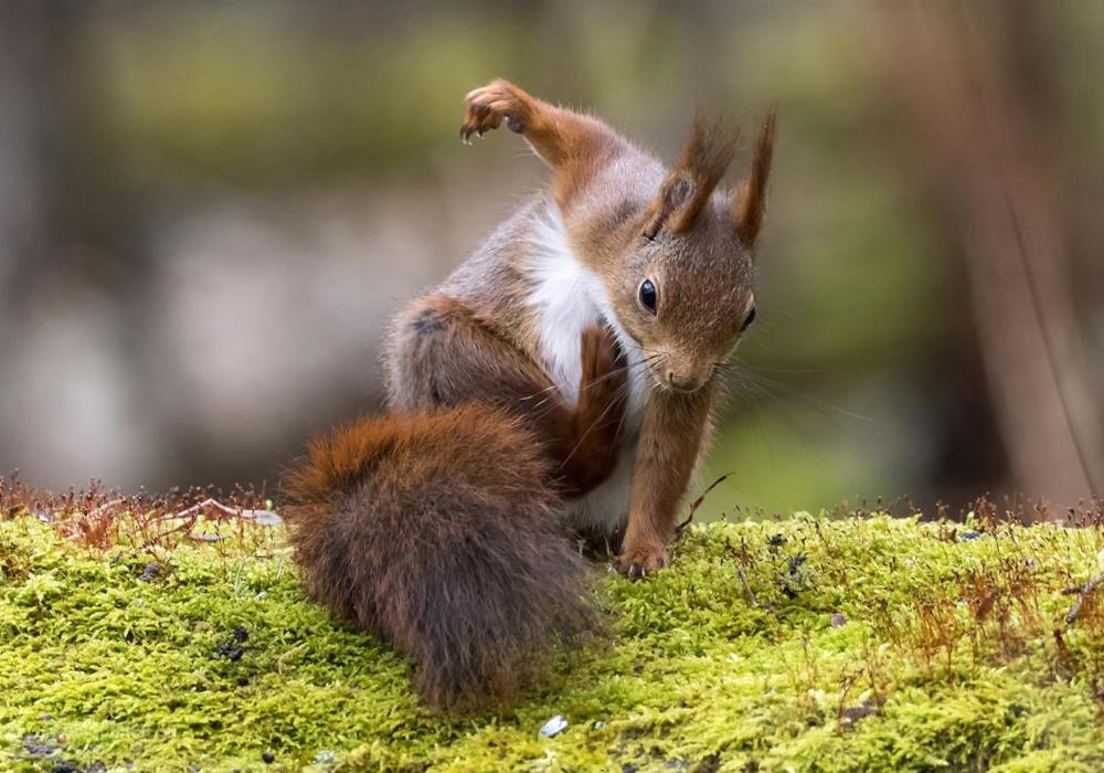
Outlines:
[[[1080,0],[6,0],[0,472],[272,485],[375,409],[385,320],[544,179],[459,142],[502,75],[668,160],[696,106],[777,106],[713,497],[1072,504],[1104,480],[1101,73]]]

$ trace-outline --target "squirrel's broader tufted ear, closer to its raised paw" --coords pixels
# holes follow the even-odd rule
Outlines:
[[[671,168],[651,205],[644,235],[652,239],[661,229],[683,233],[693,227],[710,194],[724,176],[735,152],[735,137],[720,120],[709,121],[701,110],[694,115],[678,163]]]

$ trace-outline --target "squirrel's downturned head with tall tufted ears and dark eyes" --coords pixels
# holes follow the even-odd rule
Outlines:
[[[660,389],[700,389],[755,318],[753,257],[766,213],[774,135],[772,113],[749,176],[734,192],[718,191],[734,137],[699,114],[644,227],[629,234],[617,271],[606,274],[617,322],[640,346]]]

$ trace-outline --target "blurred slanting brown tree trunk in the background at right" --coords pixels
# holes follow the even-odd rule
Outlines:
[[[883,7],[881,64],[957,213],[1012,485],[1072,505],[1100,493],[1104,438],[1070,293],[1053,181],[984,13]]]

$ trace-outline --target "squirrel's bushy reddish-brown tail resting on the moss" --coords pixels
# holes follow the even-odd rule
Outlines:
[[[548,465],[477,405],[316,440],[285,481],[311,596],[412,656],[429,705],[509,702],[598,623]]]

